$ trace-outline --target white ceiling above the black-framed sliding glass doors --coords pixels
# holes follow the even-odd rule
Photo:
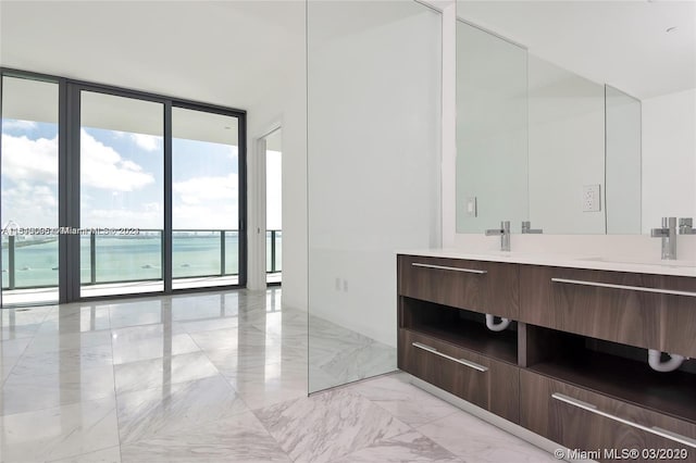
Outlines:
[[[304,67],[304,2],[1,0],[0,63],[248,110]]]

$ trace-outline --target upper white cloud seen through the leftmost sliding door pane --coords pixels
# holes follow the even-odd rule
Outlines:
[[[58,137],[30,140],[2,134],[2,176],[14,182],[58,180]]]

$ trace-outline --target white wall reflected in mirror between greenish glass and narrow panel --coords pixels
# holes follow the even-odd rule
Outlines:
[[[604,234],[604,86],[532,53],[529,83],[530,220],[546,234]]]

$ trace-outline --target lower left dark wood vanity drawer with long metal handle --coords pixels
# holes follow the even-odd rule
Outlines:
[[[398,352],[400,370],[519,423],[519,367],[403,328]]]

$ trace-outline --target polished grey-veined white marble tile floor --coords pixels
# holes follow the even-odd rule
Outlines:
[[[401,373],[307,397],[307,314],[282,308],[279,288],[3,310],[0,322],[0,462],[555,461]],[[360,335],[310,326],[324,384],[393,361]],[[344,336],[333,355],[332,333]]]

